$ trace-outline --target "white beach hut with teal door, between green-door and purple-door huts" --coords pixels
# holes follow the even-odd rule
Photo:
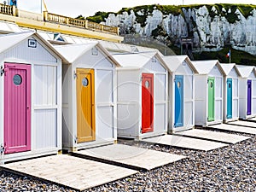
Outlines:
[[[239,119],[239,86],[238,79],[241,76],[235,63],[221,63],[224,72],[224,122]]]

